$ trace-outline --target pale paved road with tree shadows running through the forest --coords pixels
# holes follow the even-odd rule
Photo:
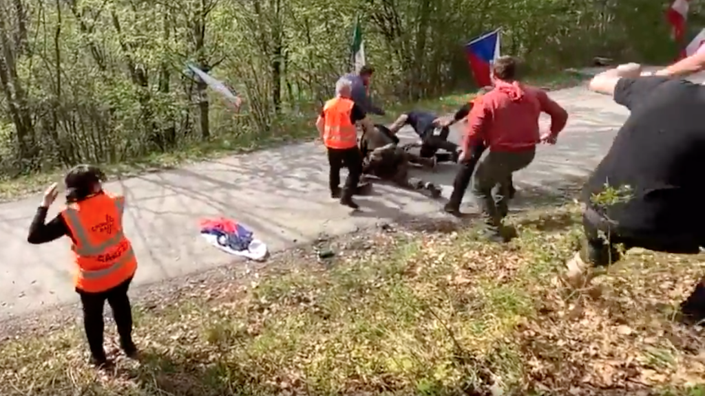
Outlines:
[[[532,166],[516,175],[519,194],[525,197],[562,194],[564,187],[575,187],[606,154],[627,116],[610,97],[584,87],[552,92],[551,97],[568,109],[570,120],[558,144],[541,147]],[[457,140],[458,132],[453,130],[451,139]],[[362,212],[350,216],[350,210],[329,198],[327,171],[324,149],[307,143],[109,183],[108,190],[127,198],[125,231],[140,262],[135,283],[238,265],[200,237],[198,223],[209,216],[244,223],[271,251],[320,233],[339,235],[399,216],[444,216],[439,213],[443,202],[386,185],[375,185],[373,196],[358,198]],[[453,173],[452,165],[441,165],[422,177],[441,184],[448,197]],[[465,206],[471,201],[467,197]],[[78,299],[68,240],[39,247],[26,242],[39,202],[35,195],[0,205],[0,320]],[[55,214],[56,208],[49,216]]]

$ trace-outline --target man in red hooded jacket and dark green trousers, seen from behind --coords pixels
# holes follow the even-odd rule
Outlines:
[[[453,185],[455,188],[467,186],[472,177],[472,168],[467,166],[468,157],[472,156],[467,154],[472,152],[472,147],[484,142],[489,147],[489,154],[477,164],[472,194],[485,218],[489,239],[505,242],[501,228],[509,210],[512,175],[534,160],[539,142],[556,143],[558,133],[568,121],[568,113],[544,90],[522,85],[516,80],[517,61],[514,58],[498,58],[492,71],[494,89],[484,94],[468,116],[468,131],[463,142],[465,158]],[[543,136],[539,132],[541,112],[551,116],[551,132]],[[444,209],[460,214],[463,193],[454,191]]]

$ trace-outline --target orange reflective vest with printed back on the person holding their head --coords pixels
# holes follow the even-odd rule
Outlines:
[[[125,197],[101,193],[61,211],[73,236],[76,288],[104,292],[137,271],[132,244],[123,234]]]

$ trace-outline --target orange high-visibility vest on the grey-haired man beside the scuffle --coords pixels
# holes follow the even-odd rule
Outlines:
[[[354,101],[336,98],[326,101],[323,143],[329,149],[351,149],[357,147],[357,130],[350,121]]]

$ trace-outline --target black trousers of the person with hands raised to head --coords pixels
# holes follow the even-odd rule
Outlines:
[[[88,347],[92,356],[96,359],[104,359],[105,351],[103,349],[103,309],[105,301],[108,301],[111,309],[113,309],[113,318],[118,328],[120,335],[120,343],[123,348],[130,347],[133,344],[132,340],[132,307],[130,307],[130,299],[128,298],[128,289],[132,278],[130,277],[125,282],[113,287],[104,292],[85,292],[76,290],[81,297],[83,306],[83,326],[88,339]]]

